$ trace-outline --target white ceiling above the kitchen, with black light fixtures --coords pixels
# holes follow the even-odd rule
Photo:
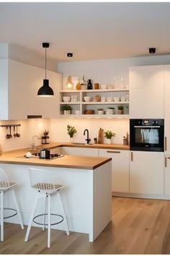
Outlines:
[[[56,61],[170,54],[170,3],[0,3],[0,42]],[[66,57],[73,52],[73,58]]]

